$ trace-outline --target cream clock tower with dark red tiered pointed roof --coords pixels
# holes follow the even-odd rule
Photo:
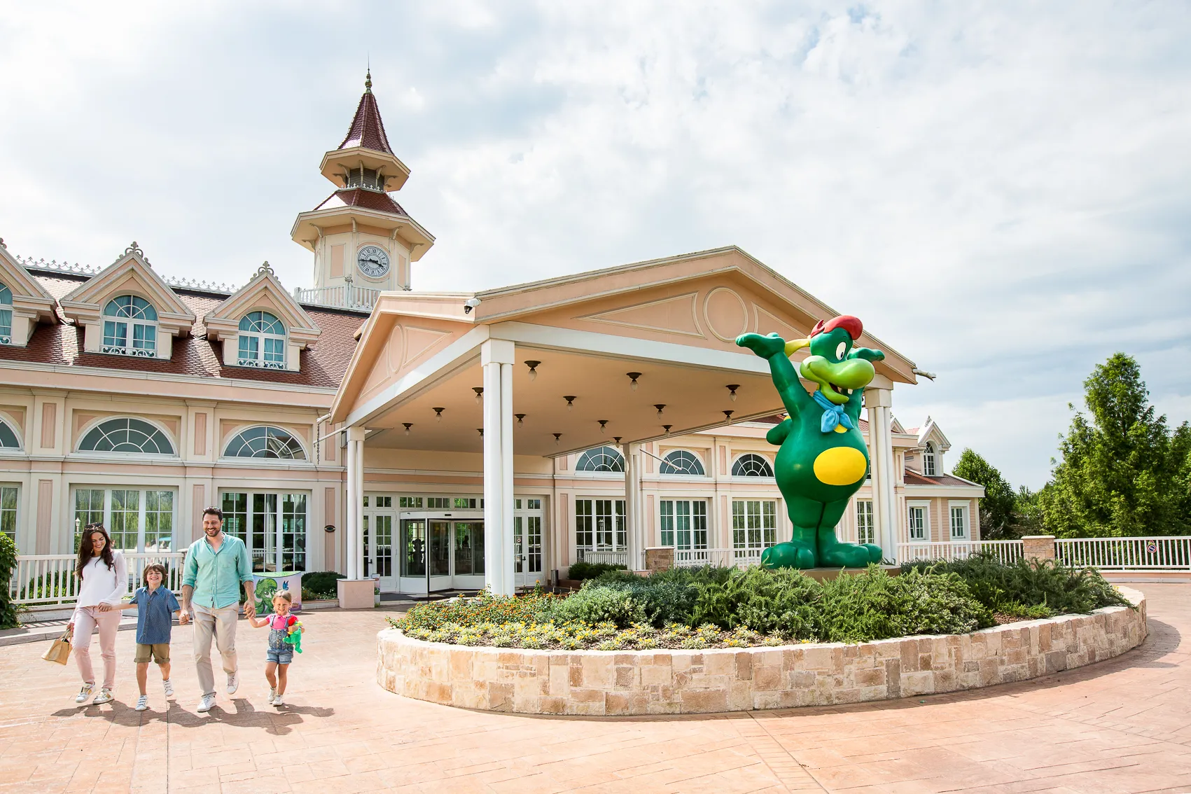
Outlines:
[[[410,289],[410,263],[420,260],[435,238],[389,195],[401,189],[410,169],[388,145],[370,71],[347,137],[323,155],[319,170],[335,193],[299,214],[289,232],[314,254],[311,292],[353,292],[319,302],[370,306],[373,290]],[[356,289],[331,289],[344,286]]]

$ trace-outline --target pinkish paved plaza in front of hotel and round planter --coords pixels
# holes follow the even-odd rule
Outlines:
[[[1191,792],[1191,584],[1131,584],[1151,637],[1021,684],[850,707],[678,718],[468,712],[375,682],[381,612],[303,615],[287,704],[264,705],[266,630],[239,625],[243,683],[195,713],[191,630],[176,701],[150,670],[132,709],[133,632],[116,702],[77,707],[74,662],[0,648],[0,792]],[[92,645],[98,661],[98,642]],[[218,658],[218,656],[216,657]]]

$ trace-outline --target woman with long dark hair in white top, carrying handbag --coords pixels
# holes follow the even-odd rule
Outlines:
[[[116,632],[120,627],[120,611],[100,612],[104,604],[119,606],[129,588],[129,571],[124,555],[112,550],[112,539],[102,524],[88,524],[79,540],[79,564],[75,575],[79,584],[79,601],[70,615],[69,630],[74,631],[75,661],[82,676],[82,689],[75,698],[85,704],[95,690],[95,674],[91,667],[91,632],[99,626],[99,652],[104,657],[104,686],[94,702],[112,700],[116,683]]]

